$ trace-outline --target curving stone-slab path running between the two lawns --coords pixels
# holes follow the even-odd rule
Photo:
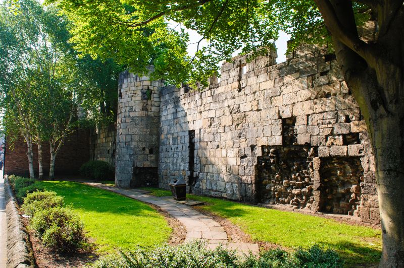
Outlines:
[[[249,251],[252,251],[254,254],[259,253],[258,244],[229,242],[227,233],[219,223],[192,209],[190,206],[175,202],[175,200],[151,196],[141,190],[136,189],[119,189],[96,182],[83,183],[113,191],[145,203],[153,204],[167,211],[171,216],[179,220],[186,227],[185,242],[206,240],[208,242],[207,247],[210,249],[214,249],[219,244],[222,244],[227,246],[229,249],[236,249],[239,253],[248,254]]]

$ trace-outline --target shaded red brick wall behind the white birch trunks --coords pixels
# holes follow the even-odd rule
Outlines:
[[[34,145],[34,172],[38,176],[38,147]],[[49,174],[49,144],[44,143],[43,150],[43,169],[44,175]],[[89,132],[87,130],[78,130],[70,135],[58,155],[56,156],[55,175],[73,175],[78,173],[80,166],[89,160]],[[28,158],[27,144],[24,139],[20,139],[10,148],[6,138],[6,153],[4,174],[15,174],[28,176]]]

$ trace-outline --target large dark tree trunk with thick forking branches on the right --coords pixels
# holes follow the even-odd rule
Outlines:
[[[333,37],[345,81],[365,117],[376,165],[383,249],[380,267],[404,267],[404,8],[369,1],[374,42],[359,39],[352,2],[315,0]]]

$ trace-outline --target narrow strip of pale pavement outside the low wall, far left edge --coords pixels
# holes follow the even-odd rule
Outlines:
[[[0,267],[7,266],[7,217],[3,170],[0,171]]]

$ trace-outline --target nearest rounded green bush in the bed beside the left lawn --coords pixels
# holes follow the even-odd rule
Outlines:
[[[55,251],[75,252],[84,242],[83,224],[69,208],[37,211],[30,227],[45,246]]]

